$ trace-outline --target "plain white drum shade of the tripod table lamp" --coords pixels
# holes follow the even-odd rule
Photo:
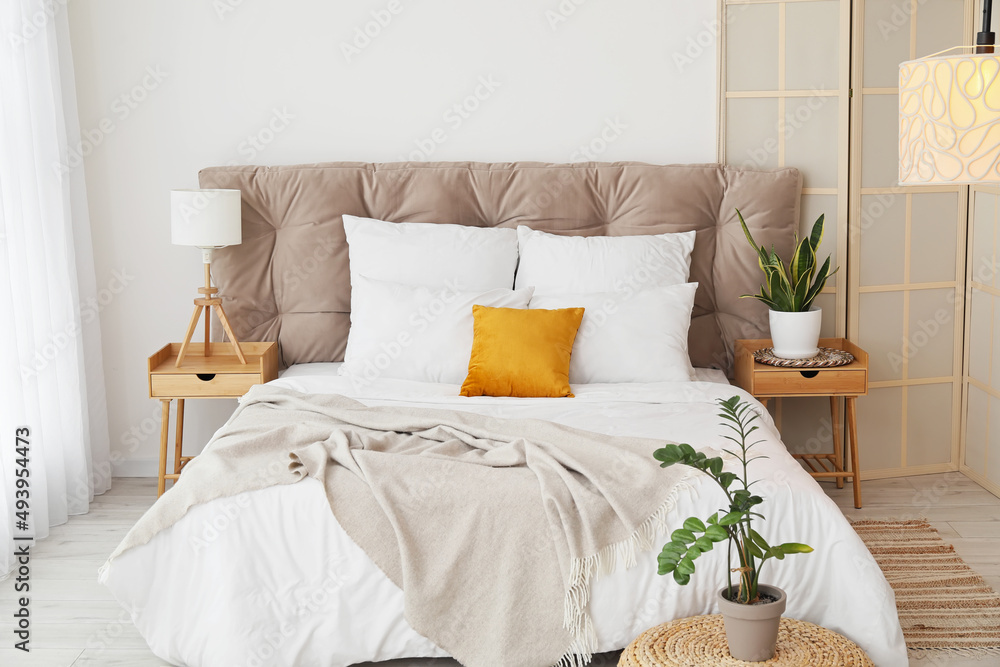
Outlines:
[[[171,190],[170,240],[221,248],[243,240],[239,190]]]

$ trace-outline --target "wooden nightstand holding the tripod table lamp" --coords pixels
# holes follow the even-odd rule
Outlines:
[[[164,345],[149,358],[149,397],[160,399],[163,423],[160,426],[160,472],[157,495],[162,496],[168,479],[180,477],[192,456],[181,454],[184,442],[184,400],[188,398],[239,398],[255,384],[278,377],[277,343],[240,343],[247,363],[241,364],[231,343],[212,343],[205,356],[204,343],[191,343],[180,368],[174,366],[180,343]],[[170,429],[170,402],[177,399],[177,427],[174,434],[174,472],[167,474],[167,435]]]

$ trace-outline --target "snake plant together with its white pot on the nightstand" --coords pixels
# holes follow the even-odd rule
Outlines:
[[[813,308],[813,301],[826,285],[826,280],[837,269],[830,270],[830,257],[816,270],[816,249],[823,240],[823,218],[813,224],[808,238],[797,241],[792,261],[786,265],[774,251],[757,245],[750,234],[743,214],[736,209],[747,241],[757,251],[758,263],[764,272],[765,282],[758,294],[744,294],[743,298],[763,301],[770,308],[771,340],[774,355],[784,359],[808,359],[819,353],[819,329],[823,313]]]

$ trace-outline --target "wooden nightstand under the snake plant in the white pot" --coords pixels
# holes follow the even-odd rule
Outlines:
[[[844,480],[854,486],[854,506],[861,508],[861,463],[858,459],[858,420],[855,399],[868,394],[868,353],[846,338],[822,338],[821,347],[846,350],[854,361],[834,368],[795,369],[768,366],[754,361],[753,353],[771,347],[767,338],[736,341],[736,384],[764,405],[770,398],[829,396],[833,418],[833,454],[794,454],[816,478],[833,478],[837,488]],[[837,399],[844,398],[847,411],[847,463],[840,444],[840,415]]]

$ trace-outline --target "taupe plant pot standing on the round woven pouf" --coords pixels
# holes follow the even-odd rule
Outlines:
[[[774,657],[778,625],[785,612],[787,598],[785,591],[777,586],[761,585],[757,590],[777,599],[766,604],[737,604],[726,598],[728,587],[723,588],[716,596],[719,611],[726,623],[729,654],[737,660],[764,662]]]

